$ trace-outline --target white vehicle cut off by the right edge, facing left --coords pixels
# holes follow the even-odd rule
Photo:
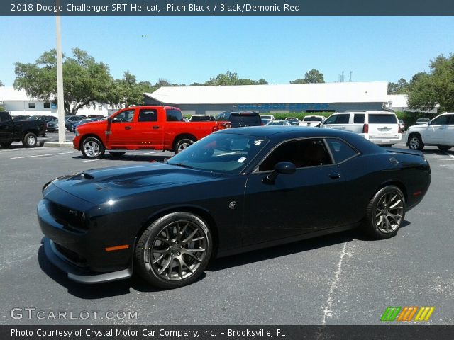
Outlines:
[[[424,145],[436,145],[447,151],[454,146],[454,113],[443,113],[427,124],[413,125],[406,134],[406,145],[410,149],[422,150]]]

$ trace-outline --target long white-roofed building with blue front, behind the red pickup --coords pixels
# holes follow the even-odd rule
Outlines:
[[[382,110],[388,104],[387,81],[242,86],[166,86],[145,93],[148,105],[179,107],[184,114],[214,115],[253,110],[289,113]]]

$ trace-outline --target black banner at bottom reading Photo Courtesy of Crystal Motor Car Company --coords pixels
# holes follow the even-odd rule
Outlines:
[[[0,326],[0,339],[454,339],[453,326]]]

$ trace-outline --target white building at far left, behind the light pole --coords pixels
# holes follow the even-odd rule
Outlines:
[[[54,115],[57,117],[57,104],[40,101],[27,96],[25,90],[15,90],[13,86],[0,86],[0,106],[11,115]],[[77,115],[104,115],[117,111],[108,104],[93,101],[88,106],[79,108]]]

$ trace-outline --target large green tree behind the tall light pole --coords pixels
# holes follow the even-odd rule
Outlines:
[[[109,103],[114,79],[109,66],[96,62],[87,52],[72,49],[72,57],[63,56],[63,97],[65,114],[75,115],[91,101]],[[16,62],[15,89],[25,89],[28,96],[45,101],[57,99],[57,52],[44,52],[33,64]]]

